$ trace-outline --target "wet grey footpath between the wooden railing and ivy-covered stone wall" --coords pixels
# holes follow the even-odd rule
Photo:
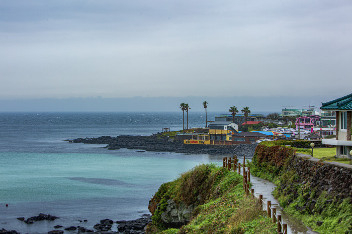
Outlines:
[[[276,187],[275,184],[273,184],[269,180],[255,177],[253,175],[250,175],[250,182],[253,185],[252,188],[254,189],[254,194],[256,197],[259,197],[259,194],[262,194],[263,200],[265,202],[270,200],[272,203],[272,207],[277,208],[277,214],[282,215],[282,222],[287,223],[288,233],[319,233],[313,231],[312,229],[304,225],[299,219],[292,217],[283,210],[283,208],[279,205],[279,201],[272,195],[272,192]],[[263,204],[263,209],[266,210],[267,205]]]

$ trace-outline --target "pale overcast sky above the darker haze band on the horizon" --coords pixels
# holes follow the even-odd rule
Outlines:
[[[0,1],[0,100],[351,87],[350,0]]]

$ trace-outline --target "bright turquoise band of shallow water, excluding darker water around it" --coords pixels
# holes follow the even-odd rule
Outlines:
[[[191,160],[189,155],[187,158],[171,154],[156,157],[154,152],[137,153],[127,149],[116,153],[118,156],[0,153],[0,176],[3,178],[0,202],[124,197],[126,193],[137,194],[173,179],[180,171],[199,162],[209,161],[205,155]]]

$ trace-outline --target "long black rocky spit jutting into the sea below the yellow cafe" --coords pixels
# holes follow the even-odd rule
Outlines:
[[[101,136],[97,138],[78,138],[66,140],[69,143],[106,144],[108,149],[138,149],[157,152],[175,152],[190,154],[235,154],[237,156],[252,157],[257,144],[241,145],[196,145],[183,144],[183,140],[159,137],[157,134],[150,136]]]

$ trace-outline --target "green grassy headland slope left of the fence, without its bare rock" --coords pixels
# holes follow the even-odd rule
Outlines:
[[[256,199],[245,196],[242,176],[213,164],[202,164],[165,183],[152,198],[153,222],[147,233],[274,233],[275,224]],[[193,219],[180,229],[163,230],[161,213],[167,199],[198,207]]]

